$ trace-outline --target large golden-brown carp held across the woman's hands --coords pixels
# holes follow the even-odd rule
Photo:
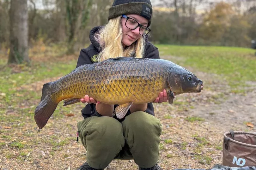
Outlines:
[[[64,77],[43,85],[34,119],[43,128],[58,103],[80,102],[84,95],[106,104],[119,104],[114,114],[121,119],[132,103],[153,102],[163,90],[173,103],[174,94],[200,92],[202,80],[185,68],[163,59],[118,57],[77,67]]]

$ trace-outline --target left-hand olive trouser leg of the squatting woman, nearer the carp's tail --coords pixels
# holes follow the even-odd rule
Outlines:
[[[89,117],[77,123],[79,136],[93,168],[105,168],[125,143],[123,127],[112,117]]]

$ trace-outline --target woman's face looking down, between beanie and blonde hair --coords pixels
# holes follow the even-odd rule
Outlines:
[[[143,16],[140,16],[137,14],[131,14],[126,16],[136,20],[138,23],[140,23],[143,26],[148,26],[149,21]],[[125,22],[126,22],[126,18],[122,17],[121,19],[121,25],[123,30],[122,43],[126,46],[129,46],[135,41],[137,41],[140,37],[142,37],[142,35],[140,35],[139,33],[139,29],[140,29],[139,26],[135,30],[131,30],[125,26]]]

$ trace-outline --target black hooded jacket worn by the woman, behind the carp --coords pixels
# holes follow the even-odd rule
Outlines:
[[[83,64],[92,64],[95,62],[96,56],[100,53],[101,47],[100,44],[95,40],[94,34],[101,29],[101,26],[96,26],[90,31],[90,41],[92,44],[90,44],[87,48],[84,48],[80,51],[77,65],[76,67],[79,67]],[[145,52],[143,58],[159,58],[159,51],[158,48],[156,48],[152,43],[150,43],[146,38],[146,44],[145,44]],[[90,116],[102,116],[96,111],[96,105],[95,104],[87,104],[82,109],[82,116],[85,118],[88,118]],[[116,108],[118,105],[114,105],[114,108]],[[155,116],[154,113],[154,107],[152,103],[148,103],[148,107],[145,110],[145,112],[152,114]],[[131,114],[130,110],[128,110],[127,115]],[[115,119],[119,120],[116,116],[113,116]],[[122,122],[125,119],[125,117],[121,120]]]

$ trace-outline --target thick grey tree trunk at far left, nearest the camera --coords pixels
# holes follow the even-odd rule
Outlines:
[[[28,58],[28,10],[27,0],[11,0],[10,54],[8,64],[30,62]]]

